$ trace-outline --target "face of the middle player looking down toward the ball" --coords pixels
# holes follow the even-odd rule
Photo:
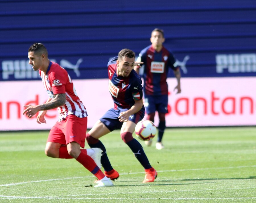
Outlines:
[[[135,58],[123,57],[121,61],[117,60],[117,75],[128,77],[133,70]]]

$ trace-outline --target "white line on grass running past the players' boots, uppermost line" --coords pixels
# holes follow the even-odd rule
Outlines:
[[[236,166],[236,167],[219,167],[219,168],[195,168],[195,169],[173,169],[173,170],[166,170],[166,171],[157,171],[158,173],[163,172],[176,172],[176,171],[199,171],[199,170],[211,170],[211,169],[233,169],[233,168],[251,168],[256,166]],[[143,172],[131,172],[131,173],[120,173],[120,175],[129,175],[129,174],[141,174]],[[58,178],[58,179],[48,179],[48,180],[39,180],[39,181],[27,181],[27,182],[20,182],[20,183],[9,183],[0,185],[0,187],[4,186],[13,186],[13,185],[21,185],[21,184],[28,184],[28,183],[40,183],[40,182],[48,182],[48,181],[59,181],[59,180],[68,180],[68,179],[77,179],[77,178],[89,178],[92,176],[84,176],[84,177],[70,177],[70,178]]]

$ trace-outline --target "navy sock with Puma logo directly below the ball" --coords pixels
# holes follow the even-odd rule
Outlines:
[[[143,147],[136,139],[132,139],[131,141],[126,143],[132,150],[133,154],[137,158],[137,160],[141,163],[144,169],[152,168],[150,165],[148,158],[143,150]]]

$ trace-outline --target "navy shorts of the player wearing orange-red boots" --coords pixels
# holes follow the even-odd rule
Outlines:
[[[121,129],[123,122],[119,121],[118,116],[121,112],[129,110],[128,108],[120,108],[120,109],[114,109],[111,108],[108,110],[101,118],[100,121],[110,130],[117,130]],[[144,118],[145,115],[145,108],[143,107],[139,112],[136,114],[133,114],[129,117],[129,121],[134,122],[137,124],[139,121],[141,121]]]

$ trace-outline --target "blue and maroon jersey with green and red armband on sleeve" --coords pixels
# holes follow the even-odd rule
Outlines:
[[[117,56],[108,62],[108,89],[114,101],[114,108],[131,108],[135,101],[141,100],[142,81],[135,70],[132,70],[128,77],[117,76]],[[144,108],[144,106],[143,106]]]

